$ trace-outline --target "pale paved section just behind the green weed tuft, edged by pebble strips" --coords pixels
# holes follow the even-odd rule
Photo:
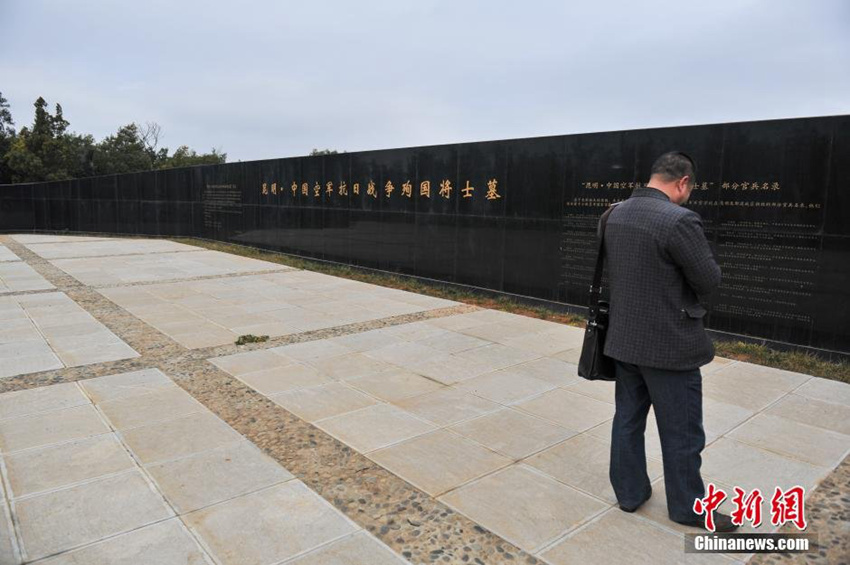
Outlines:
[[[291,270],[100,292],[190,349],[233,343],[244,334],[279,337],[457,304],[377,287],[382,307],[367,308],[363,286]]]

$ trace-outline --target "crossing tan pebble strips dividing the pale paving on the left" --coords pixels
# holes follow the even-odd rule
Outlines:
[[[125,361],[9,377],[0,380],[0,393],[156,367],[411,563],[541,563],[206,361],[451,316],[478,307],[460,305],[282,336],[264,343],[188,350],[23,245],[5,236],[0,236],[0,242],[141,354]]]

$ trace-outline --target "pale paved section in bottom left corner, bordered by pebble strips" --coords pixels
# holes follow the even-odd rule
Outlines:
[[[151,412],[163,393],[197,405],[189,428],[200,433],[177,431],[180,411]],[[402,562],[156,369],[0,394],[0,409],[2,508],[13,518],[0,513],[0,563],[309,563],[340,547],[363,563]],[[151,428],[186,449],[150,457],[137,440]],[[226,441],[210,441],[212,429]]]

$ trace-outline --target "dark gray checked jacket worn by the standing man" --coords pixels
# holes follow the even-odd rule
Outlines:
[[[714,357],[704,304],[720,267],[699,214],[655,188],[636,188],[605,230],[611,308],[605,354],[625,363],[695,369]]]

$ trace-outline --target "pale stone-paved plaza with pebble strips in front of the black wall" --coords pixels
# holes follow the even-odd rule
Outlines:
[[[747,561],[683,553],[652,415],[653,496],[616,507],[582,338],[166,240],[0,236],[0,565]],[[833,480],[850,385],[703,374],[707,482]]]

